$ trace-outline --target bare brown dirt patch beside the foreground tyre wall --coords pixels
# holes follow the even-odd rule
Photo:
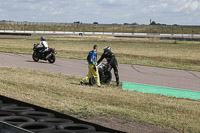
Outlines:
[[[172,131],[169,129],[164,129],[152,124],[142,123],[142,122],[127,122],[122,123],[121,120],[117,118],[92,118],[91,120],[84,120],[92,123],[96,123],[108,128],[113,128],[116,130],[128,132],[128,133],[180,133],[178,131]]]

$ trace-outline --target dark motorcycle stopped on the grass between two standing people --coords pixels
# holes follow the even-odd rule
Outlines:
[[[100,83],[101,84],[110,84],[110,81],[112,79],[112,73],[110,71],[107,71],[108,65],[105,63],[100,63],[97,66],[97,68],[99,71]],[[96,84],[96,81],[93,76],[89,79],[89,84],[90,85]]]

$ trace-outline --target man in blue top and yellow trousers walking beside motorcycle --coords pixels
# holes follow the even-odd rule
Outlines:
[[[90,79],[92,76],[94,76],[94,79],[96,81],[97,86],[99,88],[103,88],[101,86],[101,83],[100,83],[99,72],[98,72],[98,69],[97,69],[97,49],[98,49],[98,46],[94,45],[93,50],[90,51],[88,56],[87,56],[89,71],[88,71],[87,76],[85,76],[80,81],[80,85],[84,85],[88,81],[88,79]]]

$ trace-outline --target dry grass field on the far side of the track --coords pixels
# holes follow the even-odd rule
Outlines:
[[[0,39],[1,52],[32,54],[34,43],[41,35],[31,37],[0,36],[0,38],[26,38],[26,40]],[[200,43],[164,41],[159,38],[131,39],[106,36],[46,35],[50,47],[56,48],[58,57],[86,59],[94,44],[109,45],[119,63],[200,71]]]

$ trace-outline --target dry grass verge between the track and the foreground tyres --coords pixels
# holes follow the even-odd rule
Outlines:
[[[9,74],[8,74],[9,73]],[[116,117],[167,129],[200,132],[200,101],[80,86],[80,77],[0,67],[0,94],[78,118]],[[45,79],[45,82],[43,82]]]

